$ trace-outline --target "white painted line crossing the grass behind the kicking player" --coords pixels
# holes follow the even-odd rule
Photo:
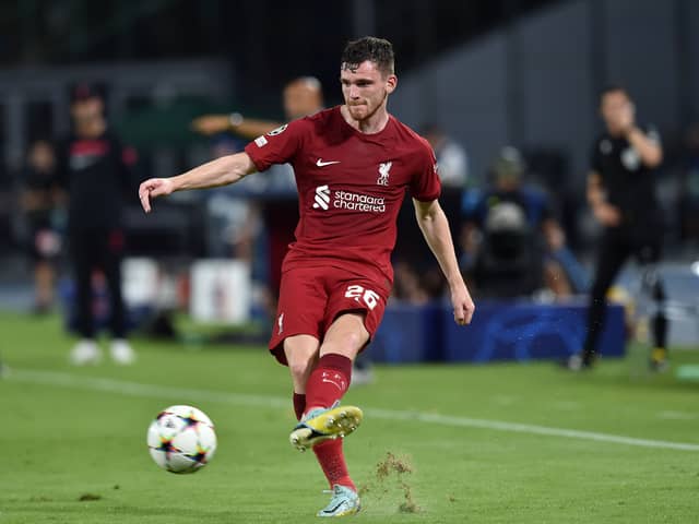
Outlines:
[[[217,402],[240,406],[272,407],[288,409],[288,398],[279,396],[248,395],[241,393],[225,393],[213,390],[193,390],[186,388],[171,388],[166,385],[143,384],[112,379],[87,378],[76,374],[56,371],[28,371],[12,370],[9,380],[33,384],[72,388],[88,391],[102,391],[119,395],[140,396],[147,398],[169,398],[171,402],[188,403],[192,401]],[[497,431],[509,431],[529,434],[542,434],[546,437],[560,437],[566,439],[592,440],[615,444],[636,445],[639,448],[660,448],[678,451],[699,451],[698,443],[670,442],[665,440],[636,439],[619,434],[597,433],[593,431],[579,431],[576,429],[549,428],[531,424],[506,422],[501,420],[487,420],[481,418],[458,417],[423,412],[408,412],[399,409],[366,408],[364,413],[369,417],[383,420],[400,420],[410,422],[424,422],[452,428],[481,428]]]

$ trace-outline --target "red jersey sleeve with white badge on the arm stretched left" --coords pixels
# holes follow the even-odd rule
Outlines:
[[[274,164],[293,162],[304,142],[308,120],[299,119],[285,123],[262,134],[245,146],[258,171],[264,171]]]

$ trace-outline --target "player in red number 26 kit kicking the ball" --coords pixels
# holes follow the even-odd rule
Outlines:
[[[391,43],[375,37],[348,43],[340,80],[342,106],[259,136],[244,153],[146,180],[139,190],[147,213],[156,196],[235,183],[276,163],[294,166],[300,219],[282,270],[270,350],[292,374],[299,424],[289,440],[300,450],[312,448],[332,488],[319,516],[359,511],[337,437],[356,429],[362,410],[337,403],[350,385],[352,361],[376,333],[386,308],[395,218],[406,190],[449,283],[454,321],[467,324],[474,311],[437,200],[433,151],[387,110],[398,83]]]

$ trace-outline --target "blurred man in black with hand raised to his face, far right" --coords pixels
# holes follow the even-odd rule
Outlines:
[[[661,258],[663,221],[655,195],[655,168],[663,159],[657,132],[639,128],[628,93],[618,86],[602,92],[601,112],[606,132],[595,142],[588,200],[604,226],[588,311],[588,332],[582,352],[567,360],[568,368],[590,367],[595,360],[606,313],[606,294],[624,263],[633,255],[642,269],[642,288],[654,301],[651,322],[654,349],[650,364],[667,365],[664,313],[665,290],[656,270]]]

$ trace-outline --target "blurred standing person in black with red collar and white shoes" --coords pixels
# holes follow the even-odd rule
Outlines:
[[[72,92],[73,132],[57,145],[57,181],[68,193],[68,239],[73,263],[78,331],[82,340],[71,353],[75,365],[94,364],[100,352],[95,338],[92,277],[100,270],[107,282],[112,340],[110,353],[118,364],[135,355],[126,340],[121,295],[123,233],[121,209],[133,190],[133,153],[107,128],[104,104],[96,86],[79,84]]]

